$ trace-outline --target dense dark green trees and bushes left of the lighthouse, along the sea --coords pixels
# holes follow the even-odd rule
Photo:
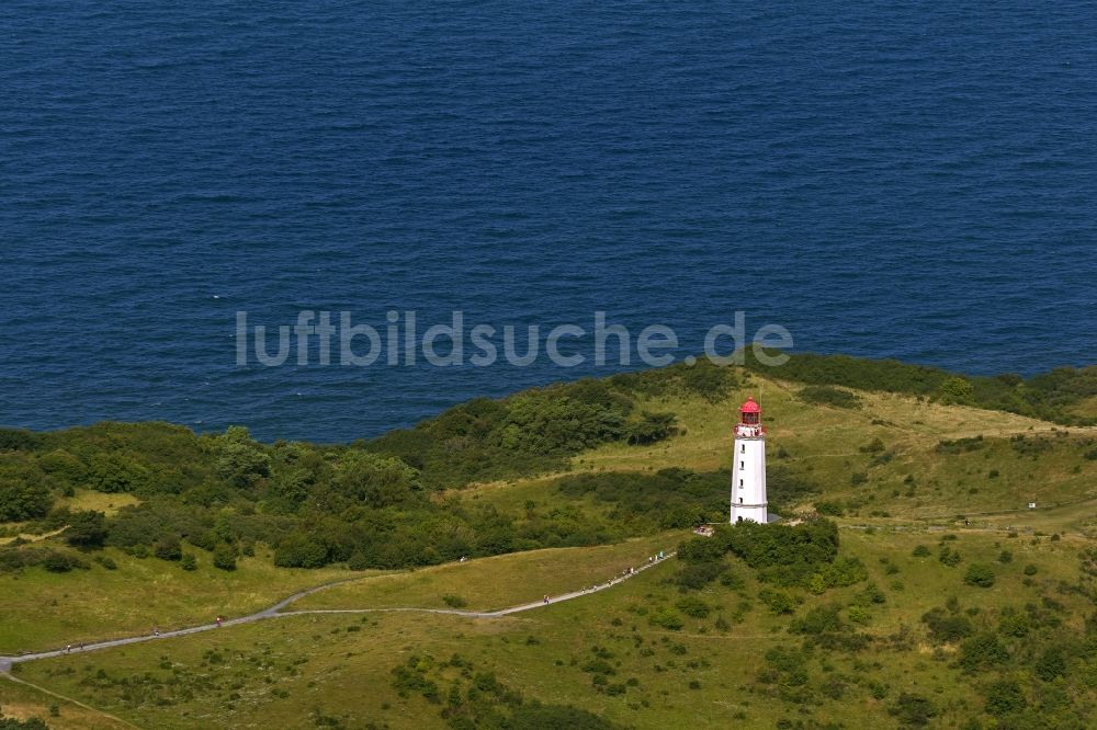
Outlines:
[[[640,379],[666,391],[686,387],[676,385],[678,378],[659,373]],[[567,506],[528,509],[514,517],[432,494],[473,478],[558,466],[604,441],[646,444],[672,435],[672,415],[633,408],[634,380],[583,380],[477,400],[404,435],[351,446],[261,444],[240,426],[216,435],[163,423],[2,431],[0,518],[29,522],[20,526],[27,532],[64,528],[61,539],[79,550],[109,546],[184,569],[195,564],[192,548],[233,570],[257,544],[271,546],[279,566],[347,562],[364,569],[604,543],[658,528],[658,522],[612,524]],[[423,448],[389,448],[423,438]],[[57,498],[77,488],[133,494],[140,503],[110,517],[54,509]],[[645,512],[657,509],[651,503]],[[44,564],[63,555],[19,544],[3,552],[0,568]],[[50,560],[58,569],[87,564],[78,556],[67,568]]]

